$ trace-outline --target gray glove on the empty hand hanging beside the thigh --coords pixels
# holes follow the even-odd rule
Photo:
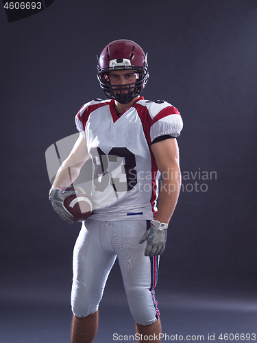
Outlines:
[[[145,232],[139,241],[139,244],[142,244],[147,240],[145,256],[149,257],[162,255],[162,252],[164,252],[168,228],[168,224],[160,223],[158,220],[152,220],[151,224],[151,228]]]

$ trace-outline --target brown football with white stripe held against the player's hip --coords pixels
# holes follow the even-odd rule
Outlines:
[[[73,222],[83,222],[83,220],[86,220],[91,215],[93,204],[84,189],[75,187],[74,190],[77,191],[77,194],[66,198],[64,200],[64,206],[74,216]]]

